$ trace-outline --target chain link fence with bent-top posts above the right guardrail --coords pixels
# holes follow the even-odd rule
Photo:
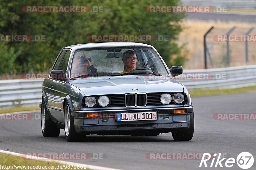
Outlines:
[[[255,35],[253,27],[213,28],[205,39],[207,68],[255,65]]]

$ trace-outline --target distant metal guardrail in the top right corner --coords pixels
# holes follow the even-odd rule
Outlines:
[[[256,0],[181,0],[181,2],[184,6],[228,6],[231,9],[256,9]]]

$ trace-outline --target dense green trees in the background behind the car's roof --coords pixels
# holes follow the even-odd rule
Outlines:
[[[93,6],[103,7],[103,12],[86,13],[25,13],[23,6]],[[184,63],[182,47],[176,43],[182,31],[183,13],[150,13],[147,6],[177,6],[179,0],[0,0],[0,34],[45,35],[45,41],[4,43],[5,65],[13,61],[11,70],[17,72],[48,71],[61,48],[68,45],[91,43],[89,35],[167,35],[169,41],[142,42],[153,45],[168,67]],[[2,43],[2,42],[0,42]],[[12,53],[11,53],[12,50]],[[175,56],[175,60],[173,59]],[[3,65],[0,70],[4,70]]]

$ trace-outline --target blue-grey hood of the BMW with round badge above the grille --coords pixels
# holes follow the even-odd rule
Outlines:
[[[86,96],[124,93],[183,92],[180,82],[168,79],[152,80],[140,76],[96,77],[76,79],[69,82]],[[138,89],[138,90],[132,90]]]

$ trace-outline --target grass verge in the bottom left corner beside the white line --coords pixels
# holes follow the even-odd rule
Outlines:
[[[70,168],[68,168],[68,165],[62,165],[57,162],[24,159],[20,156],[14,156],[14,155],[0,153],[0,169],[7,169],[8,167],[9,167],[9,169],[11,169],[12,166],[13,166],[13,169],[16,169],[16,170],[47,169],[47,167],[49,167],[49,166],[52,166],[53,168],[51,167],[48,169],[62,169],[62,167],[64,167],[63,169],[76,169],[76,168],[74,168],[75,166],[73,166],[73,168],[71,168],[71,166],[70,166]],[[20,167],[18,167],[18,166],[20,166]],[[42,166],[44,166],[46,168],[43,168]],[[59,168],[57,166],[59,166]],[[62,166],[62,167],[60,168],[60,166]],[[65,167],[67,167],[67,168],[65,168]],[[81,168],[79,167],[79,169],[81,169]],[[84,169],[84,167],[82,169]],[[88,168],[86,168],[86,169],[89,170]]]

